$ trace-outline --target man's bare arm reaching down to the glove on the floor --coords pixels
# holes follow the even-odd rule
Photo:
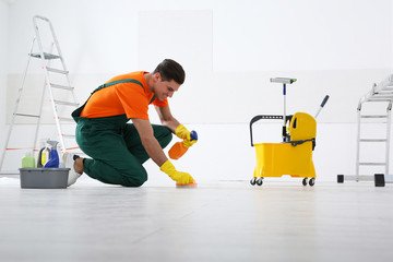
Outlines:
[[[131,118],[131,120],[138,130],[147,155],[160,167],[168,158],[166,157],[157,139],[154,136],[151,122],[140,118]]]

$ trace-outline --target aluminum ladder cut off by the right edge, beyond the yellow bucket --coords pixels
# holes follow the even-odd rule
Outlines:
[[[366,103],[385,103],[386,111],[381,115],[364,115],[362,106]],[[355,176],[345,176],[345,180],[368,181],[374,180],[376,187],[384,187],[385,183],[393,182],[393,175],[390,175],[390,144],[391,144],[391,127],[392,127],[392,103],[393,103],[393,74],[389,75],[380,84],[373,84],[370,92],[364,95],[358,103],[357,107],[357,141],[356,141],[356,172]],[[365,139],[361,136],[361,127],[365,121],[372,119],[374,123],[385,124],[385,136]],[[384,144],[384,160],[381,162],[365,162],[360,160],[360,145],[361,144]],[[384,167],[383,174],[374,174],[374,176],[360,175],[361,167],[366,166],[382,166]],[[344,175],[337,176],[337,182],[344,182]]]

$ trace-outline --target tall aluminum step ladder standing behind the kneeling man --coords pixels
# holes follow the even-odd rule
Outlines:
[[[0,171],[1,172],[2,172],[2,167],[3,167],[3,162],[4,162],[5,154],[7,154],[8,150],[10,150],[9,148],[10,138],[11,138],[12,130],[13,130],[14,124],[15,124],[15,119],[17,117],[36,119],[35,136],[34,136],[33,146],[31,147],[32,152],[36,148],[37,135],[38,135],[39,127],[41,124],[45,90],[47,90],[47,92],[48,92],[49,102],[50,102],[51,109],[52,109],[52,112],[53,112],[53,119],[55,119],[55,123],[56,123],[56,128],[57,128],[57,134],[58,134],[57,139],[59,140],[61,153],[64,153],[68,150],[78,148],[78,147],[67,147],[68,143],[66,143],[66,141],[68,141],[70,143],[76,144],[74,142],[75,141],[74,133],[73,134],[64,134],[62,132],[62,124],[72,124],[72,123],[74,123],[74,120],[70,116],[68,116],[68,117],[59,116],[59,110],[58,110],[59,107],[63,107],[63,106],[78,108],[79,103],[76,102],[74,87],[72,87],[72,85],[71,85],[69,71],[67,70],[66,62],[64,62],[63,56],[61,53],[59,41],[58,41],[58,39],[56,37],[53,26],[52,26],[51,22],[47,17],[39,16],[39,15],[35,15],[33,17],[33,25],[34,25],[35,36],[33,38],[31,51],[28,53],[27,66],[25,68],[24,74],[23,74],[22,85],[21,85],[21,87],[19,90],[19,95],[17,95],[17,99],[16,99],[16,103],[15,103],[15,106],[14,106],[11,124],[10,124],[10,128],[9,128],[9,132],[7,134],[7,140],[5,140],[5,143],[4,143],[3,153],[2,153],[2,156],[1,156],[1,160],[0,160]],[[46,28],[46,31],[44,31],[44,27]],[[43,43],[43,36],[40,34],[40,29],[43,29],[43,32],[49,32],[50,36],[46,35],[46,37],[49,38],[49,41],[50,41],[50,46],[48,48],[48,51],[44,50],[44,43]],[[34,52],[36,44],[38,46],[38,51]],[[56,49],[55,51],[53,51],[53,47]],[[38,115],[23,114],[23,112],[19,111],[21,96],[22,96],[24,87],[25,87],[25,80],[26,80],[26,75],[27,75],[27,72],[28,72],[28,67],[29,67],[32,58],[41,60],[41,69],[44,70],[44,74],[45,74],[45,83],[44,83],[43,95],[41,95],[41,99],[40,99]],[[51,67],[51,62],[55,61],[55,60],[60,60],[60,64],[61,64],[60,68],[52,68]],[[67,83],[67,84],[55,84],[55,83],[52,83],[50,81],[50,76],[55,78],[55,75],[56,76],[62,75],[62,78],[66,78],[64,83]],[[53,92],[52,92],[53,88],[63,90],[64,92],[70,92],[71,93],[71,100],[61,100],[61,99],[58,99],[58,97],[55,97]],[[5,174],[9,174],[9,172],[5,172]]]

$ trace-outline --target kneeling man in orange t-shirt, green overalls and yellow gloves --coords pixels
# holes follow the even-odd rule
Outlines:
[[[184,82],[182,67],[165,59],[153,73],[132,72],[116,76],[96,88],[87,102],[72,112],[76,121],[76,143],[92,158],[66,153],[63,162],[71,168],[69,184],[83,174],[105,183],[140,187],[147,180],[142,166],[152,158],[180,184],[193,182],[188,172],[176,170],[163,148],[172,132],[191,146],[190,131],[170,112],[171,97]],[[148,105],[153,104],[163,126],[151,124]],[[129,120],[132,123],[127,123]]]

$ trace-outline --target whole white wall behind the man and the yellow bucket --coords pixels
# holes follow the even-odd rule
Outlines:
[[[3,105],[4,111],[10,115],[13,91],[25,67],[33,37],[32,17],[40,14],[55,25],[81,102],[109,78],[153,70],[163,58],[175,58],[184,66],[187,80],[172,98],[171,108],[180,121],[201,129],[200,148],[195,150],[200,153],[194,155],[200,167],[191,159],[183,160],[184,169],[191,172],[219,166],[222,171],[214,171],[217,178],[231,174],[233,179],[241,179],[241,170],[253,168],[247,123],[255,115],[283,111],[282,87],[271,84],[270,78],[298,79],[288,86],[288,112],[313,115],[324,95],[331,95],[318,119],[319,140],[325,146],[317,147],[314,160],[320,164],[322,178],[334,179],[338,170],[354,171],[353,158],[345,156],[355,155],[358,99],[372,83],[391,73],[391,3],[16,0],[8,20],[11,103]],[[39,70],[32,73],[33,82]],[[151,118],[157,121],[155,116]],[[337,136],[343,148],[332,152]],[[214,150],[216,140],[221,143],[219,157]],[[332,154],[338,157],[334,167],[326,165]]]

